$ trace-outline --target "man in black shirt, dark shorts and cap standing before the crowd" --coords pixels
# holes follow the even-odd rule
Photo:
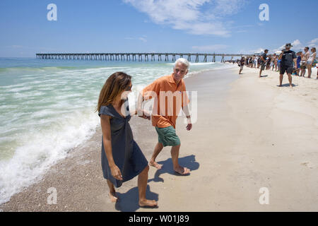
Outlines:
[[[295,52],[290,50],[291,47],[293,46],[290,43],[285,44],[285,49],[282,50],[278,57],[278,59],[281,59],[281,69],[279,70],[279,86],[282,85],[283,75],[286,72],[288,75],[289,86],[293,87],[291,74],[293,73],[293,70],[296,69],[297,57]]]

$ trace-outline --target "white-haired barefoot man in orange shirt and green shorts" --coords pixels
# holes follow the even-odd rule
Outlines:
[[[139,95],[138,111],[143,112],[142,103],[144,100],[154,98],[151,121],[158,133],[158,143],[155,145],[153,156],[149,165],[161,169],[162,165],[155,162],[163,147],[172,146],[171,157],[173,169],[179,174],[189,174],[190,169],[182,167],[178,163],[180,140],[175,133],[177,116],[182,108],[187,117],[187,130],[192,129],[191,117],[189,114],[189,99],[183,77],[188,73],[189,61],[184,58],[175,61],[173,73],[168,76],[158,78],[153,83],[144,88]],[[167,101],[166,101],[167,100]],[[141,113],[143,114],[143,113]]]

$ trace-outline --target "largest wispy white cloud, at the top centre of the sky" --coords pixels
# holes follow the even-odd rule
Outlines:
[[[123,0],[146,13],[154,23],[194,35],[228,37],[226,16],[238,13],[245,0]]]

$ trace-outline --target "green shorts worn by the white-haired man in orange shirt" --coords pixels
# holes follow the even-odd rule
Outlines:
[[[173,126],[165,128],[158,128],[155,126],[155,131],[158,133],[158,142],[162,143],[163,146],[177,146],[180,144],[180,139],[175,133]]]

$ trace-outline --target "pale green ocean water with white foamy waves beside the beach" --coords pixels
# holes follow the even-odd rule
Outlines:
[[[231,66],[191,63],[187,76],[223,67]],[[0,204],[93,136],[100,126],[95,107],[108,76],[128,73],[131,95],[137,95],[172,68],[172,62],[158,61],[0,58]]]

